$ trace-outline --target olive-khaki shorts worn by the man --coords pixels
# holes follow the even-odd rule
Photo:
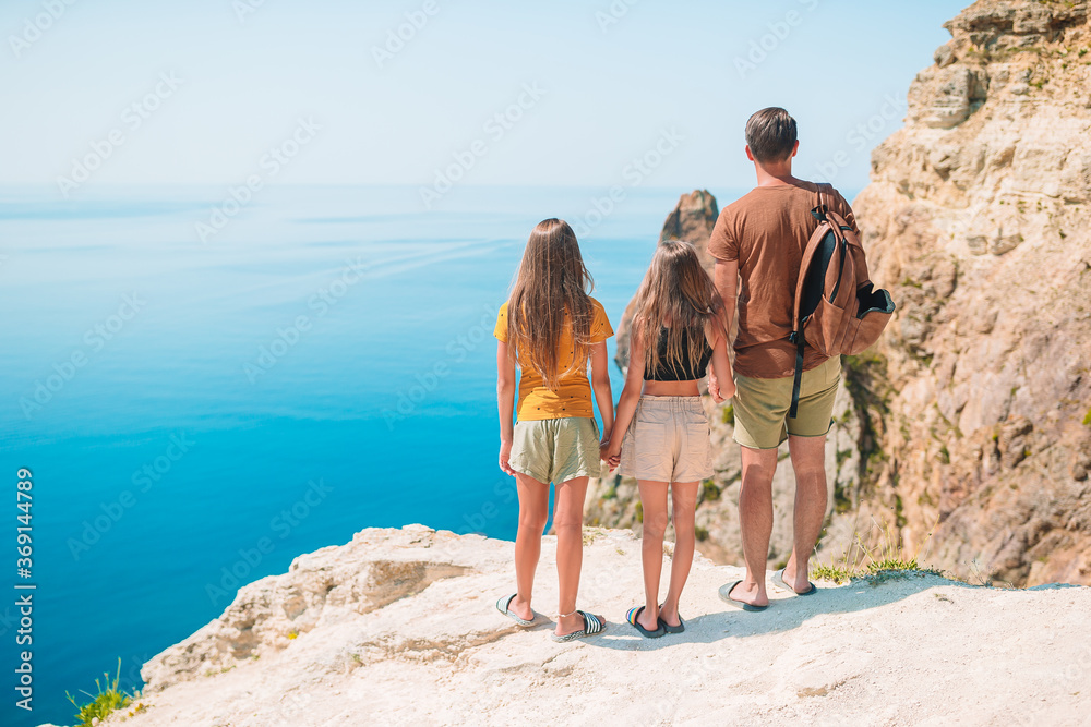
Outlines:
[[[788,435],[820,437],[834,423],[834,399],[841,383],[841,356],[803,372],[800,409],[788,417],[792,407],[794,377],[750,378],[735,375],[734,439],[751,449],[776,449]]]

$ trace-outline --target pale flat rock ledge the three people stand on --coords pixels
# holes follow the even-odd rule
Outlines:
[[[649,641],[623,620],[643,597],[640,544],[584,541],[579,605],[607,619],[592,639],[556,644],[547,617],[520,629],[496,611],[512,543],[365,530],[243,586],[148,662],[144,694],[103,727],[1075,725],[1091,711],[1091,589],[888,573],[808,598],[771,591],[747,614],[716,595],[741,569],[697,556],[685,633]],[[556,604],[554,561],[547,537],[540,611]]]

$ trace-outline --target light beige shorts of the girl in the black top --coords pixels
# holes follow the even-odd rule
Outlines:
[[[700,397],[640,397],[618,471],[656,482],[711,477],[712,445]]]

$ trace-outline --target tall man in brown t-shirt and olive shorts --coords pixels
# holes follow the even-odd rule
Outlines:
[[[798,595],[815,592],[807,580],[811,554],[826,518],[826,434],[841,380],[840,356],[827,359],[807,347],[798,415],[789,417],[795,373],[792,332],[795,284],[803,251],[817,222],[811,209],[818,186],[792,175],[799,150],[795,120],[781,108],[762,109],[746,122],[746,158],[757,186],[728,205],[712,230],[716,288],[729,323],[738,284],[734,439],[742,447],[739,520],[746,578],[720,589],[720,597],[744,610],[769,605],[766,560],[772,533],[772,475],[777,448],[788,439],[795,470],[792,555],[774,582]],[[827,204],[859,234],[852,209],[837,192]],[[719,385],[709,381],[718,393]]]

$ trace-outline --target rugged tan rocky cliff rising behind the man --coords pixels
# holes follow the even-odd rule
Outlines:
[[[910,86],[904,128],[873,154],[853,206],[899,311],[844,361],[824,556],[894,544],[961,575],[1091,583],[1087,4],[968,8]],[[687,228],[698,246],[709,209],[683,198],[674,213],[704,216]],[[709,553],[736,560],[731,412],[709,410],[719,472],[698,523]],[[772,562],[790,547],[788,470]],[[592,520],[638,529],[633,483],[591,494]]]

